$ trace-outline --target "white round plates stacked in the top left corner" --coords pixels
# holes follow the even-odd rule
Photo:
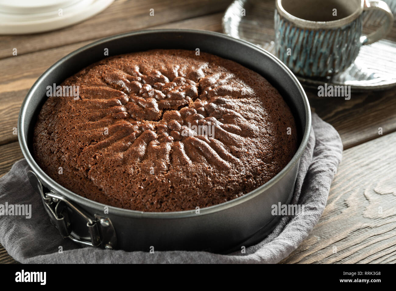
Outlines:
[[[83,21],[114,0],[0,0],[0,34],[55,30]]]

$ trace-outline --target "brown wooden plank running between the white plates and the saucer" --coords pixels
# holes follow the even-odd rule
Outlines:
[[[231,0],[117,0],[98,15],[64,29],[30,35],[0,36],[0,59],[68,46],[131,30],[155,28],[194,17],[223,12]],[[150,9],[154,16],[150,16]],[[195,28],[200,28],[196,26]]]

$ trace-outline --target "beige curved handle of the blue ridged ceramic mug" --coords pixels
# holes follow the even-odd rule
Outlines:
[[[386,14],[385,23],[383,23],[379,29],[368,35],[362,35],[360,37],[360,42],[362,45],[372,44],[373,42],[377,42],[381,38],[384,38],[386,34],[389,33],[390,29],[392,29],[394,17],[388,4],[381,0],[365,0],[363,10],[380,10]]]

